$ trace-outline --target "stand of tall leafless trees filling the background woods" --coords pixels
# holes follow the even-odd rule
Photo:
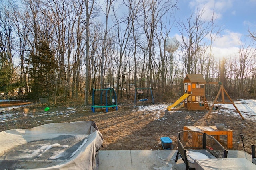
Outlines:
[[[110,84],[117,84],[118,98],[122,99],[130,94],[131,83],[136,88],[151,87],[155,93],[161,89],[158,94],[164,99],[164,95],[172,95],[166,93],[168,86],[175,89],[173,92],[182,93],[182,79],[187,73],[203,74],[207,81],[226,81],[233,96],[255,96],[255,32],[249,30],[252,42],[241,42],[237,56],[215,62],[212,49],[221,27],[215,25],[214,15],[210,20],[204,19],[204,9],[177,22],[183,54],[177,53],[180,57],[173,60],[172,68],[168,61],[173,56],[165,50],[172,29],[172,20],[167,16],[173,15],[177,1],[123,0],[121,12],[120,6],[116,8],[121,3],[116,0],[101,4],[97,1],[98,6],[95,0],[14,2],[0,1],[1,57],[8,58],[16,69],[13,81],[29,84],[36,77],[28,71],[40,67],[39,61],[31,62],[32,56],[44,54],[42,48],[47,47],[51,59],[58,64],[51,73],[55,79],[48,82],[55,99],[64,97],[67,102],[69,95],[75,99],[85,93],[84,103],[88,104],[92,88]],[[105,24],[96,18],[99,6],[104,9]],[[29,92],[31,88],[25,86],[25,90]]]

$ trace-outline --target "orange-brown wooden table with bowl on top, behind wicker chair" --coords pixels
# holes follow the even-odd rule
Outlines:
[[[227,128],[217,129],[216,126],[184,126],[184,130],[193,130],[207,133],[208,135],[216,135],[215,139],[220,140],[220,135],[227,135],[227,147],[233,147],[233,131]]]

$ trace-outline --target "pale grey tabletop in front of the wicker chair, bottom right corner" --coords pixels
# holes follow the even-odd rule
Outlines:
[[[195,160],[196,170],[256,170],[256,165],[246,158]]]

